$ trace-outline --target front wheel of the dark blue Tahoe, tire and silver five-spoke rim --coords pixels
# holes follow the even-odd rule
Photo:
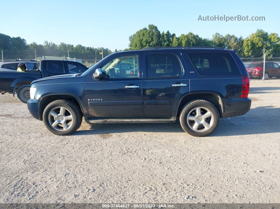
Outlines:
[[[56,135],[74,133],[82,123],[80,107],[69,100],[55,100],[48,104],[43,112],[46,128]]]

